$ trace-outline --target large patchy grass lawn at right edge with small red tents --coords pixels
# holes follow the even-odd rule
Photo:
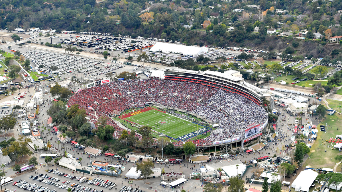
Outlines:
[[[315,118],[315,116],[313,116],[313,118]],[[310,153],[308,153],[308,155],[311,155],[311,159],[306,160],[304,167],[309,165],[314,168],[334,168],[336,163],[338,163],[338,161],[334,160],[334,157],[340,155],[341,153],[339,150],[330,149],[330,146],[328,148],[327,146],[329,143],[322,141],[322,139],[329,140],[331,137],[336,138],[336,135],[341,134],[341,130],[337,130],[337,127],[340,127],[341,129],[341,123],[338,121],[341,118],[341,115],[337,115],[337,113],[334,115],[326,115],[325,120],[317,125],[318,128],[320,125],[326,125],[326,123],[329,126],[326,132],[318,132],[317,140],[315,141],[314,145],[311,146]],[[324,150],[327,150],[327,152],[324,152]],[[338,166],[338,170],[340,170],[340,166]]]

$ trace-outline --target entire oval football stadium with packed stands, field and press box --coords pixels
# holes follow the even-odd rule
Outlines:
[[[116,124],[117,117],[137,127],[150,126],[158,134],[162,132],[176,140],[175,146],[188,140],[196,147],[236,142],[243,146],[264,133],[268,115],[261,104],[263,99],[273,99],[273,95],[244,82],[239,71],[202,72],[171,67],[164,72],[162,78],[96,86],[93,83],[73,95],[68,105],[78,104],[86,109],[94,124],[101,116],[111,117],[107,123],[115,127],[115,138],[123,130]],[[196,139],[206,132],[207,137]],[[136,137],[141,139],[138,133]]]

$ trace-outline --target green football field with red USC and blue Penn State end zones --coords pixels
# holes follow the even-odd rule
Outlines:
[[[147,125],[155,131],[163,132],[167,137],[179,141],[196,137],[197,134],[200,135],[211,129],[151,107],[121,115],[119,118],[131,123]]]

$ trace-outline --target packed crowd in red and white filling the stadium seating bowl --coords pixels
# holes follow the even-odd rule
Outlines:
[[[126,109],[144,107],[147,102],[183,109],[218,122],[219,127],[210,136],[192,140],[198,146],[212,145],[213,141],[229,138],[242,138],[249,124],[263,125],[268,118],[261,106],[239,94],[199,83],[162,79],[116,81],[91,87],[71,97],[68,105],[78,104],[96,121],[100,116],[113,114],[113,111],[117,114]],[[175,114],[172,110],[167,112]],[[193,120],[190,116],[180,118]],[[115,136],[119,137],[122,128],[113,120],[109,120],[108,124],[115,127]],[[183,141],[174,145],[181,146]]]

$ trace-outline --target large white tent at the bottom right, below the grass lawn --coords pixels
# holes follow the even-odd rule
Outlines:
[[[317,173],[312,169],[302,171],[292,182],[292,188],[295,191],[309,191],[311,184],[315,181]]]

